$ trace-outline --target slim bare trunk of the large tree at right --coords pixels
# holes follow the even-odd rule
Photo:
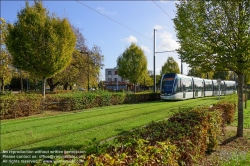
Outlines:
[[[243,137],[243,83],[244,75],[238,74],[238,128],[237,136]]]

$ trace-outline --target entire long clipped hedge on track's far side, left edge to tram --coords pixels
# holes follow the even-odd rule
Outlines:
[[[8,94],[0,96],[1,119],[18,118],[43,110],[73,111],[93,107],[159,100],[159,93],[112,93],[107,91],[47,94]],[[42,102],[44,101],[44,102]]]

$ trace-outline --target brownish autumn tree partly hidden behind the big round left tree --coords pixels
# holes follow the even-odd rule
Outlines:
[[[103,55],[100,47],[94,45],[90,50],[86,46],[86,39],[79,28],[71,25],[76,35],[76,46],[72,54],[70,65],[62,72],[47,79],[50,91],[53,91],[57,85],[63,85],[63,89],[68,87],[72,89],[73,85],[87,87],[88,76],[92,87],[98,86],[100,70],[103,67]]]

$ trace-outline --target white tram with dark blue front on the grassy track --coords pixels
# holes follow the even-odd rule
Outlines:
[[[218,80],[176,73],[164,74],[160,84],[160,97],[162,100],[185,100],[234,93],[236,93],[235,81],[218,82]]]

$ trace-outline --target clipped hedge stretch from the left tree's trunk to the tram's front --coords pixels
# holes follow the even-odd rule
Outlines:
[[[138,103],[159,100],[159,93],[112,93],[99,92],[74,92],[70,94],[57,94],[46,98],[46,108],[61,111],[72,111],[93,107]]]

